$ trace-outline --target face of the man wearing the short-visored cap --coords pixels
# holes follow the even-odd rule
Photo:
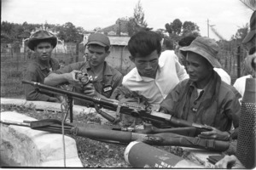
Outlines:
[[[109,51],[105,51],[105,48],[98,45],[90,45],[88,47],[88,61],[90,66],[98,66],[104,63],[105,58],[108,57]]]

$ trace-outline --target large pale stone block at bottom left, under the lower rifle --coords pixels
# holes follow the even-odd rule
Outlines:
[[[15,111],[4,111],[1,112],[1,120],[23,122],[36,119]],[[15,164],[20,167],[64,167],[61,134],[33,130],[30,127],[1,124],[0,144],[1,159],[15,161]],[[83,167],[79,160],[75,140],[65,136],[65,145],[66,166]]]

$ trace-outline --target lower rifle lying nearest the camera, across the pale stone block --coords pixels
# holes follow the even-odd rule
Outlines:
[[[46,119],[42,121],[24,121],[11,122],[1,120],[0,123],[7,125],[30,127],[34,130],[46,131],[49,133],[61,133],[61,121],[55,119]],[[64,123],[64,134],[71,134],[75,136],[85,137],[102,142],[113,144],[129,144],[132,141],[141,141],[150,145],[176,145],[183,147],[193,147],[203,150],[224,151],[230,147],[230,142],[214,140],[214,139],[200,139],[198,137],[192,138],[175,133],[132,133],[118,130],[111,130],[105,128],[106,126],[83,123],[83,127],[76,126],[73,123]]]

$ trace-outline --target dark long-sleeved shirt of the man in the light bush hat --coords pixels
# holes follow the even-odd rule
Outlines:
[[[214,80],[211,79],[207,84],[207,87],[198,94],[194,82],[190,83],[189,79],[179,82],[176,88],[174,88],[161,103],[161,106],[166,108],[168,113],[177,118],[183,118],[184,111],[188,111],[186,112],[188,116],[185,118],[187,121],[207,124],[208,126],[216,127],[221,131],[230,131],[233,123],[235,130],[232,130],[232,133],[237,133],[241,111],[241,105],[239,104],[238,99],[241,95],[234,87],[221,81],[217,99],[206,109],[204,108],[204,104],[207,104],[206,102],[210,101],[208,99],[212,99],[210,91],[214,88],[212,87],[213,83]],[[181,95],[188,84],[192,93],[189,98],[186,97],[186,95]],[[181,99],[181,101],[187,100],[187,105],[184,105],[183,108],[175,107],[178,99]]]

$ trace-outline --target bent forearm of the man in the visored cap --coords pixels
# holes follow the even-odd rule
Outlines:
[[[44,78],[44,84],[49,86],[56,86],[63,82],[68,82],[69,73],[56,74],[50,73],[48,77]]]

